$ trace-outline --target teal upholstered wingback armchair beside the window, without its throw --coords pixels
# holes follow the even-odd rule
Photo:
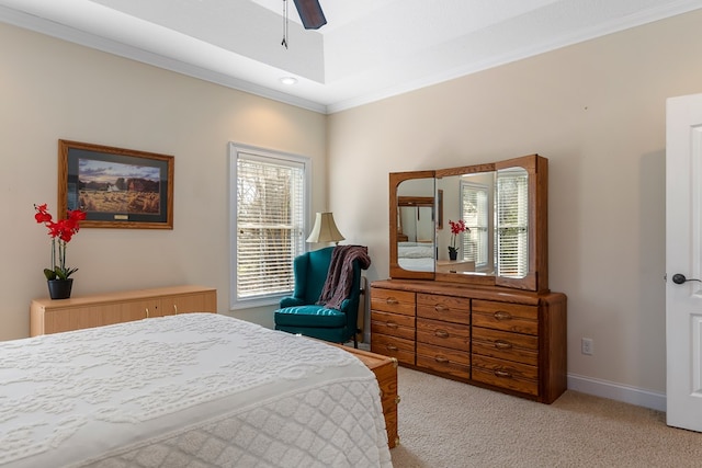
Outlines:
[[[295,289],[293,296],[281,299],[280,308],[275,310],[275,330],[335,343],[346,343],[353,339],[353,346],[358,347],[356,319],[363,259],[352,260],[353,272],[349,277],[351,289],[338,308],[317,304],[330,274],[333,250],[351,247],[353,246],[328,247],[303,253],[294,260]]]

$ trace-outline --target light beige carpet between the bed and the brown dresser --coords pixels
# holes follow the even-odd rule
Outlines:
[[[542,404],[399,367],[395,468],[702,467],[665,413],[566,391]]]

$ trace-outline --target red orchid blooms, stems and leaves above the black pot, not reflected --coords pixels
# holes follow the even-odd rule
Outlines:
[[[48,281],[68,279],[78,269],[66,266],[66,248],[68,247],[68,242],[70,242],[80,229],[80,221],[86,219],[86,212],[69,209],[68,218],[54,221],[52,215],[47,212],[46,204],[34,205],[34,209],[36,210],[34,219],[36,219],[36,222],[39,225],[47,227],[48,235],[52,238],[52,267],[44,269],[44,276],[46,276]]]

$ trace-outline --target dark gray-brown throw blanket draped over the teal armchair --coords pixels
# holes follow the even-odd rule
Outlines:
[[[339,309],[343,299],[349,297],[353,286],[353,262],[359,261],[361,270],[371,266],[369,248],[365,246],[337,246],[331,252],[331,263],[327,281],[321,288],[318,305],[327,309]]]

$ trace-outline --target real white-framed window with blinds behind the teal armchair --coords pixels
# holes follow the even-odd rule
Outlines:
[[[231,309],[278,304],[305,249],[308,158],[229,144]]]

